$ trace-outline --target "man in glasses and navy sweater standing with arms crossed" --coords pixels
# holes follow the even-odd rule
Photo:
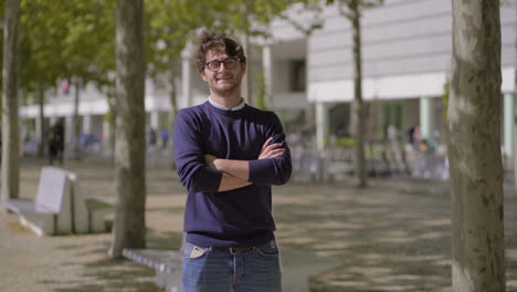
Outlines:
[[[196,62],[210,96],[180,111],[173,133],[188,189],[183,292],[281,291],[271,186],[292,170],[282,124],[241,97],[246,58],[234,40],[202,32]]]

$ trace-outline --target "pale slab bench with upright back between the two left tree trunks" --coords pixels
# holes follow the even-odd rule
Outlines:
[[[106,231],[104,215],[108,204],[99,197],[80,196],[76,184],[75,174],[43,167],[34,200],[7,199],[2,204],[38,236]]]

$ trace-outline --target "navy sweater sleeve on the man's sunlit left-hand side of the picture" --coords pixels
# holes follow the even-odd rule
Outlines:
[[[222,173],[210,168],[204,161],[201,124],[189,112],[180,111],[175,121],[173,149],[177,171],[181,184],[189,192],[215,192]]]

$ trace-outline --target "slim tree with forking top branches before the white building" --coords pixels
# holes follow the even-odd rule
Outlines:
[[[368,186],[367,161],[365,155],[366,111],[362,102],[362,58],[361,58],[361,17],[362,10],[382,4],[383,0],[327,0],[337,2],[339,13],[347,18],[352,28],[354,39],[354,102],[352,126],[355,127],[356,177],[358,187]]]

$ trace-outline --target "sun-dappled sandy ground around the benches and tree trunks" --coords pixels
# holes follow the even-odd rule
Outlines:
[[[25,161],[21,194],[34,196],[41,164]],[[81,190],[114,196],[104,163],[66,163]],[[184,190],[167,168],[148,170],[149,248],[180,246]],[[284,292],[450,291],[450,197],[426,181],[350,181],[274,188]],[[517,291],[517,201],[506,201],[507,283]],[[160,291],[154,272],[106,255],[110,234],[39,238],[0,215],[0,291]],[[334,267],[334,268],[333,268]]]

